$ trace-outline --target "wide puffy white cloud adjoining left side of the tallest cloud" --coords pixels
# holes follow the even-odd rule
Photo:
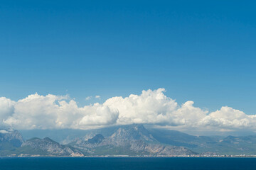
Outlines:
[[[117,111],[95,103],[93,106],[79,108],[66,96],[48,94],[29,95],[14,104],[13,113],[2,122],[17,129],[86,128],[88,125],[113,124]]]

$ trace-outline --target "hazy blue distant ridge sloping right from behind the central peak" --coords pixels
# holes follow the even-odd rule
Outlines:
[[[175,130],[149,129],[151,135],[166,145],[183,146],[194,152],[216,154],[256,154],[256,136],[193,136]]]

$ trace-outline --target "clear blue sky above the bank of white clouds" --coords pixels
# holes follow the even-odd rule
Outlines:
[[[0,96],[166,89],[255,114],[255,1],[1,1]],[[101,99],[86,101],[87,96]]]

